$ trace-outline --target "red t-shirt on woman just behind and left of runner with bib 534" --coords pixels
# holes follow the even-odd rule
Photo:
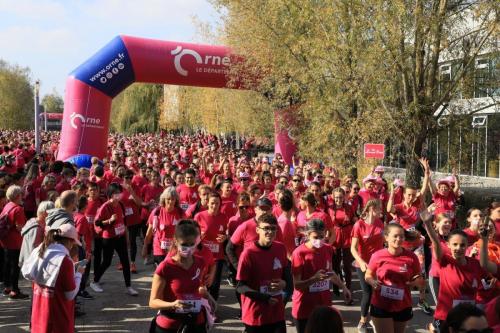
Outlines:
[[[372,224],[368,224],[359,219],[352,229],[352,238],[358,239],[359,256],[368,263],[371,256],[384,247],[384,223],[376,219]]]

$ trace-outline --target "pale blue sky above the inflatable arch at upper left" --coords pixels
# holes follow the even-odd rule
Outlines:
[[[113,37],[207,42],[195,21],[219,15],[207,0],[0,0],[0,59],[29,67],[42,97],[64,96],[67,75]]]

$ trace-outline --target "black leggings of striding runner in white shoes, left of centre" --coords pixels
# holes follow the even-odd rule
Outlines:
[[[130,263],[128,260],[127,239],[125,238],[125,236],[103,238],[102,251],[102,263],[101,266],[99,266],[97,272],[94,272],[94,282],[99,282],[101,277],[104,275],[104,272],[106,272],[108,267],[111,266],[113,253],[116,251],[123,266],[123,278],[125,279],[125,286],[130,287]]]

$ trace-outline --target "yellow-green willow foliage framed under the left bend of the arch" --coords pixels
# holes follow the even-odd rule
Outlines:
[[[113,100],[111,129],[122,133],[156,132],[163,86],[133,84]]]

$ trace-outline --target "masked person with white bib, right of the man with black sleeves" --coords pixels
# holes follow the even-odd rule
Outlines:
[[[304,333],[307,319],[316,307],[331,306],[330,282],[342,289],[346,302],[351,292],[332,268],[333,248],[325,244],[325,224],[318,219],[307,222],[307,240],[292,254],[294,283],[292,316],[297,333]]]

